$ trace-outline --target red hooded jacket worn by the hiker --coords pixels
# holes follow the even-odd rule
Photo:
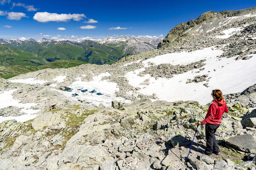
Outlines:
[[[221,124],[221,116],[224,112],[228,112],[226,102],[224,100],[213,100],[213,103],[209,106],[207,114],[201,123],[203,125],[206,123],[219,125]]]

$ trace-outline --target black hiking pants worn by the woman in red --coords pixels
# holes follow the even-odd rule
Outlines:
[[[206,136],[206,150],[207,154],[212,154],[212,152],[218,153],[219,147],[218,142],[215,138],[215,132],[220,125],[213,125],[213,124],[205,124],[205,136]]]

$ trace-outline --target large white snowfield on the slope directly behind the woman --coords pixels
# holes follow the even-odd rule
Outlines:
[[[205,105],[212,100],[210,96],[213,89],[220,89],[224,94],[237,93],[243,91],[256,82],[256,54],[248,60],[235,60],[231,58],[217,58],[221,55],[221,50],[211,50],[204,48],[203,50],[193,52],[171,53],[157,56],[148,60],[159,65],[169,63],[172,65],[189,64],[191,62],[206,59],[200,73],[196,73],[199,69],[194,69],[183,74],[174,75],[174,77],[155,79],[149,74],[144,77],[138,74],[144,69],[128,72],[125,77],[129,80],[129,84],[140,87],[140,93],[152,95],[155,93],[160,100],[174,102],[177,100],[195,100],[201,105]],[[224,66],[224,67],[222,67]],[[215,71],[214,71],[215,70]],[[135,72],[135,74],[134,74]],[[187,79],[194,79],[195,76],[208,74],[209,82],[187,83]],[[145,79],[149,79],[149,85],[140,85]],[[208,83],[208,88],[203,84]]]

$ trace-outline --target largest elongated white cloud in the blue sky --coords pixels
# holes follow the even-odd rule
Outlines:
[[[37,20],[41,23],[46,23],[49,21],[68,21],[68,20],[75,20],[80,21],[83,20],[86,16],[84,14],[56,14],[56,13],[49,13],[49,12],[37,12],[33,19]]]

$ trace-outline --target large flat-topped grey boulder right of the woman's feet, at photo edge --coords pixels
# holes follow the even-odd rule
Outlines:
[[[256,154],[256,140],[249,133],[244,135],[231,136],[230,138],[224,140],[228,145],[235,147],[236,149],[247,153]]]

